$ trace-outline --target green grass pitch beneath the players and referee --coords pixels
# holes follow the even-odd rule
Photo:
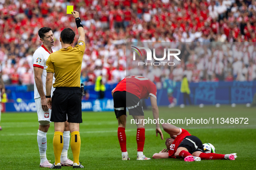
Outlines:
[[[201,108],[214,112],[214,107]],[[233,113],[252,112],[254,108],[237,106],[221,106],[218,112]],[[159,107],[159,113],[197,112],[199,107],[172,109]],[[146,114],[152,111],[146,110]],[[214,114],[214,113],[213,113]],[[188,115],[188,117],[191,115]],[[37,145],[36,113],[2,113],[0,131],[0,170],[42,170]],[[163,130],[162,130],[163,131]],[[117,120],[113,112],[83,112],[83,123],[80,125],[81,152],[80,161],[87,170],[255,170],[256,169],[256,129],[188,129],[192,135],[198,136],[203,143],[210,142],[216,153],[237,153],[237,160],[202,160],[185,162],[181,159],[157,159],[136,161],[136,129],[126,129],[127,151],[130,161],[121,161],[120,145],[117,139]],[[52,146],[53,123],[47,133],[47,158],[54,162]],[[163,132],[164,138],[168,135]],[[154,129],[146,129],[144,154],[151,157],[165,148],[164,141],[156,137]],[[71,148],[68,157],[72,160]],[[62,167],[72,169],[72,167]]]

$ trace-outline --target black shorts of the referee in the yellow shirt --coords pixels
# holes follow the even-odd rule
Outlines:
[[[52,122],[82,123],[82,92],[79,87],[58,87],[52,94]]]

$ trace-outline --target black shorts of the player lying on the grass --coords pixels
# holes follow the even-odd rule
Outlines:
[[[204,153],[204,146],[201,140],[196,136],[186,136],[183,141],[181,141],[179,147],[184,147],[188,149],[190,154],[193,154],[195,151],[201,151]]]

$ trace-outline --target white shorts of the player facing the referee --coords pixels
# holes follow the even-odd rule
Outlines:
[[[48,109],[48,112],[42,110],[41,98],[36,98],[35,103],[39,125],[49,125],[52,110]]]

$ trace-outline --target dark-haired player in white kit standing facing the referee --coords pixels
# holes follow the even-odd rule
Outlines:
[[[33,54],[32,62],[34,68],[34,99],[36,103],[36,110],[39,122],[39,129],[37,133],[37,143],[40,153],[40,167],[51,167],[52,164],[46,158],[47,138],[46,133],[50,127],[51,111],[46,105],[46,60],[49,55],[53,53],[52,46],[54,46],[54,36],[52,29],[48,27],[40,28],[38,31],[42,46],[39,47]],[[53,78],[53,83],[55,78]],[[55,88],[52,87],[52,92]],[[65,132],[63,133],[63,150],[61,155],[62,166],[73,166],[73,161],[68,159],[68,148],[70,141],[70,132],[68,122],[65,122]]]

